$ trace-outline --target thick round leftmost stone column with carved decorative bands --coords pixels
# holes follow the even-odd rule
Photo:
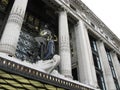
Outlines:
[[[0,41],[0,52],[15,55],[28,0],[15,0]]]

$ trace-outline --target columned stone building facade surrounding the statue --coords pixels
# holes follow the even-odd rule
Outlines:
[[[37,66],[45,26],[58,75]],[[120,90],[120,39],[81,0],[0,0],[0,37],[0,90]]]

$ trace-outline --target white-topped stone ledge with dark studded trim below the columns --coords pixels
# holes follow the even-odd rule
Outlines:
[[[31,68],[30,66],[25,66],[24,64],[17,61],[16,58],[9,57],[7,54],[0,53],[0,69],[5,70],[10,73],[15,73],[30,79],[55,85],[64,89],[69,90],[95,90],[94,88],[84,85],[82,83],[75,82],[73,80],[67,80],[67,78],[60,78],[44,71]],[[21,61],[22,62],[22,61]],[[24,63],[24,62],[23,62]]]

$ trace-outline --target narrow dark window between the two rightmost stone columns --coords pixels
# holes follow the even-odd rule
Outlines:
[[[111,55],[110,55],[110,50],[107,49],[107,48],[106,48],[106,53],[107,53],[107,58],[108,58],[108,61],[109,61],[109,66],[111,68],[112,76],[113,76],[113,79],[114,79],[114,83],[115,83],[115,86],[116,86],[116,90],[119,90],[120,86],[118,84],[118,80],[117,80],[117,77],[116,77],[115,69],[113,67],[112,58],[111,58]]]

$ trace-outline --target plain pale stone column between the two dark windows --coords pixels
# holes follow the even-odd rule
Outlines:
[[[101,66],[103,69],[106,88],[107,90],[116,90],[104,43],[102,41],[98,41],[97,46],[98,46],[98,52],[101,60]]]

